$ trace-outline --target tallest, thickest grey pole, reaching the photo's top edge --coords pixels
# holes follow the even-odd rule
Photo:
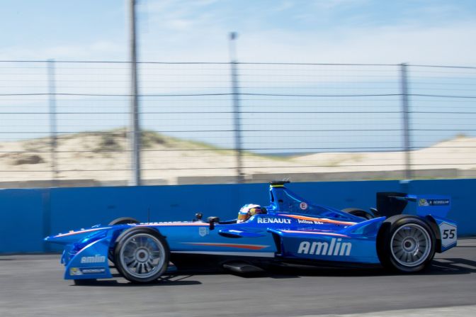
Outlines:
[[[130,0],[130,153],[131,186],[140,185],[140,121],[137,98],[137,43],[135,28],[135,0]]]

